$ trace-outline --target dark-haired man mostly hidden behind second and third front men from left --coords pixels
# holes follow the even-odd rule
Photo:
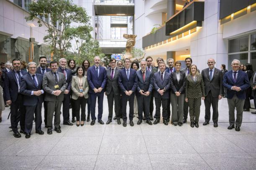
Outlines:
[[[37,74],[41,74],[42,76],[44,76],[44,73],[51,71],[51,69],[48,69],[46,67],[47,58],[45,56],[39,58],[39,64],[40,67],[36,69]],[[44,94],[42,94],[42,96],[44,98]],[[45,127],[47,127],[47,101],[44,101],[44,124]]]

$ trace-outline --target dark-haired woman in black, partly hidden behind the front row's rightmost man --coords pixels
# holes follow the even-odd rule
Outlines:
[[[244,66],[244,70],[246,71],[246,74],[247,74],[249,80],[251,80],[251,77],[253,76],[253,66],[250,63],[246,63],[246,65]],[[246,89],[246,100],[244,101],[244,105],[243,105],[244,112],[250,111],[250,108],[251,108],[250,98],[252,98],[251,92],[252,92],[251,87]]]

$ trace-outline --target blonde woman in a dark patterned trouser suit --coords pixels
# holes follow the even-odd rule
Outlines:
[[[189,102],[190,126],[199,127],[199,115],[201,97],[204,100],[204,81],[202,75],[198,73],[197,66],[192,64],[189,68],[189,75],[186,76],[185,101]]]

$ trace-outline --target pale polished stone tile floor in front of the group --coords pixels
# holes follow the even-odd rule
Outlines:
[[[106,123],[106,98],[103,106]],[[137,125],[134,118],[134,127],[116,121],[94,126],[86,122],[83,127],[61,125],[62,133],[53,131],[52,135],[42,125],[44,135],[33,129],[31,138],[25,139],[24,134],[14,138],[10,132],[9,112],[5,109],[0,123],[1,170],[256,169],[256,115],[244,112],[241,131],[228,130],[227,99],[219,102],[217,128],[212,122],[202,126],[202,102],[199,128],[191,128],[189,123],[182,127]]]

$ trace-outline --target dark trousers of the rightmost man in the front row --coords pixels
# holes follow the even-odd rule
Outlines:
[[[234,94],[232,99],[228,99],[228,114],[229,114],[229,124],[241,126],[243,120],[243,105],[244,99],[238,99]],[[236,120],[235,120],[235,108],[236,108]]]

